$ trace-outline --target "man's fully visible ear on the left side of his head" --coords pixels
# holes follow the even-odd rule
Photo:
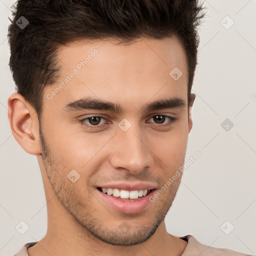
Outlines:
[[[19,93],[8,98],[8,119],[13,136],[29,154],[40,154],[39,122],[34,108]]]

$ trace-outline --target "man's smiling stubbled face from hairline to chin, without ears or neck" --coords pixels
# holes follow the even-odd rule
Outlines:
[[[143,242],[182,176],[166,185],[184,162],[191,128],[184,50],[169,37],[76,41],[57,54],[61,70],[44,90],[40,121],[44,182],[95,237]]]

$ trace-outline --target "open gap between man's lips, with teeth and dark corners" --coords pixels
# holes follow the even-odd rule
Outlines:
[[[105,193],[107,195],[113,196],[121,200],[129,200],[129,201],[138,200],[139,198],[149,194],[152,190],[155,190],[155,189],[124,190],[124,189],[106,188],[106,187],[97,187],[97,189],[100,192]]]

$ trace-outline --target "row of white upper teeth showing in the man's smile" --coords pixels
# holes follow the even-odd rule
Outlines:
[[[124,190],[124,189],[117,189],[117,188],[106,188],[102,187],[102,192],[107,193],[108,195],[113,195],[115,197],[121,197],[125,199],[136,199],[138,197],[145,196],[147,194],[147,189],[139,189],[139,190]]]

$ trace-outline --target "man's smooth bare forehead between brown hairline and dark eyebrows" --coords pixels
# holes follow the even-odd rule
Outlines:
[[[55,90],[51,104],[64,106],[93,96],[131,107],[143,99],[187,94],[186,56],[176,36],[140,38],[129,44],[114,39],[79,40],[61,46],[57,58],[59,77],[44,92],[45,100]],[[182,74],[179,79],[173,79],[173,69]]]

